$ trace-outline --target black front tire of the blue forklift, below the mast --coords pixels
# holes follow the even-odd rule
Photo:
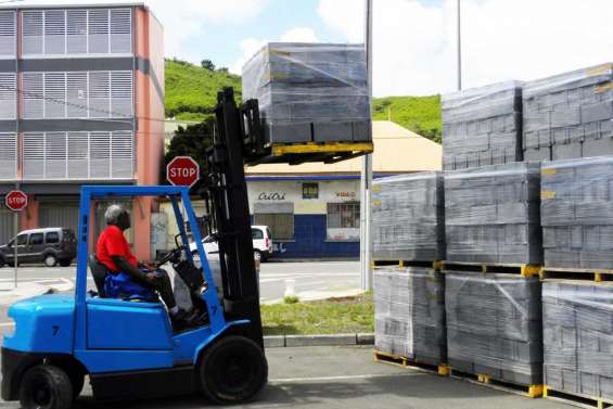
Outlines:
[[[204,395],[217,405],[248,402],[268,382],[261,348],[244,336],[227,336],[205,349],[197,369]]]

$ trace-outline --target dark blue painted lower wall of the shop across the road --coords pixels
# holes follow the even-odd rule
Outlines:
[[[359,257],[359,242],[327,242],[325,215],[294,215],[294,241],[277,242],[276,258]]]

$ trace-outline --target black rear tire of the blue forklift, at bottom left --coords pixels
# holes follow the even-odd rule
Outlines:
[[[71,379],[51,365],[33,367],[20,383],[20,402],[23,409],[68,409],[73,405]]]

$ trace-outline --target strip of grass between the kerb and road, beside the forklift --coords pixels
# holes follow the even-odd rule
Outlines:
[[[265,335],[374,332],[372,294],[261,306]]]

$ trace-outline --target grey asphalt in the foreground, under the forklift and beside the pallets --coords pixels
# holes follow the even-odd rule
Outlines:
[[[559,409],[565,405],[529,399],[465,381],[400,369],[372,360],[370,347],[270,348],[269,384],[259,398],[237,408],[304,409]],[[197,395],[155,400],[97,402],[86,383],[75,408],[205,408]],[[17,408],[16,402],[0,407]]]

